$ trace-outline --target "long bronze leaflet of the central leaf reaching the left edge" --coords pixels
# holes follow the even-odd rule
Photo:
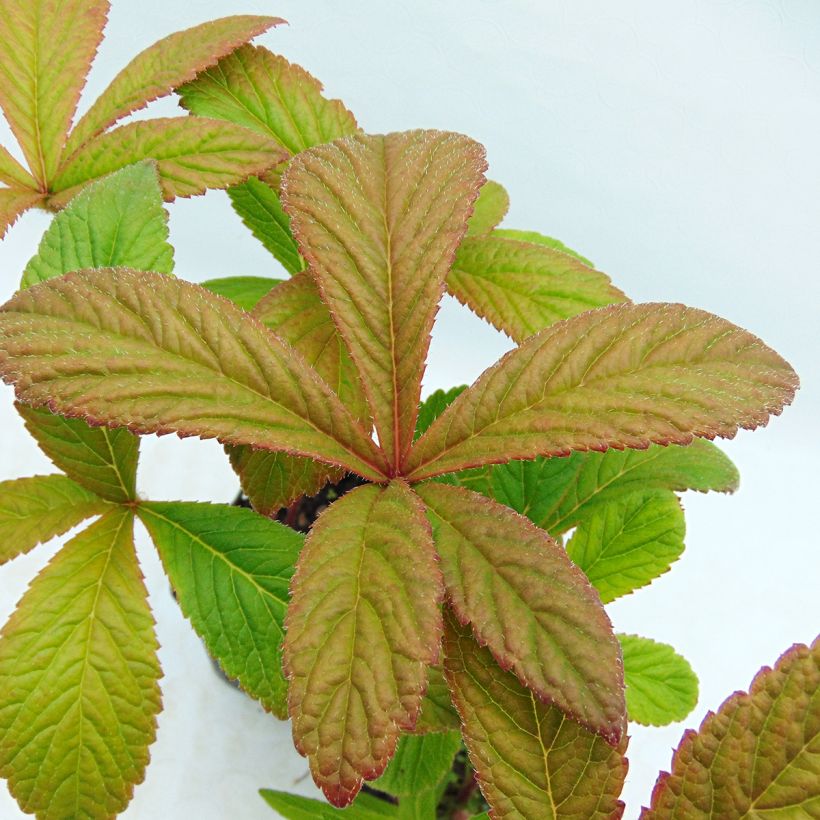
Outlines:
[[[80,271],[18,293],[0,308],[0,374],[21,401],[63,415],[383,476],[373,441],[296,351],[227,299],[162,274]]]

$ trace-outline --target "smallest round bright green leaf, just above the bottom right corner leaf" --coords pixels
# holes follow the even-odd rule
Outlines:
[[[626,709],[644,726],[683,720],[698,703],[698,678],[669,644],[618,635],[624,656]]]

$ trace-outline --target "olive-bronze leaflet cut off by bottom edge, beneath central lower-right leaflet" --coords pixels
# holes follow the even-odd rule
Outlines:
[[[444,653],[464,741],[494,818],[621,816],[621,751],[541,703],[452,617]]]

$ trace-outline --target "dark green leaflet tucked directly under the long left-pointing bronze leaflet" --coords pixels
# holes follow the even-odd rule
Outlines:
[[[128,430],[89,427],[23,404],[17,412],[40,449],[77,484],[107,501],[136,499],[139,439]]]

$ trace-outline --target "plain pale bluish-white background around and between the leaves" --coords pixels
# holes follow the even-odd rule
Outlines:
[[[506,225],[561,238],[636,301],[682,301],[749,328],[802,376],[782,418],[726,443],[741,490],[687,496],[682,560],[609,607],[618,630],[673,644],[701,680],[685,724],[634,727],[625,799],[626,816],[637,817],[683,729],[791,643],[811,641],[820,622],[820,5],[114,0],[81,108],[155,39],[237,12],[287,18],[290,27],[259,42],[318,76],[365,129],[436,127],[482,141],[490,176],[512,197]],[[176,110],[166,101],[151,113]],[[4,123],[0,141],[10,144]],[[170,211],[179,276],[277,275],[223,193]],[[0,244],[3,298],[47,221],[29,214]],[[425,390],[472,381],[507,347],[448,302]],[[0,388],[0,478],[49,471],[11,402]],[[145,495],[233,496],[213,443],[152,439],[143,452]],[[165,711],[124,816],[250,820],[273,816],[259,787],[314,793],[288,725],[212,673],[143,533],[139,545],[159,622]],[[0,614],[56,547],[0,571]],[[0,816],[22,816],[5,791]]]

